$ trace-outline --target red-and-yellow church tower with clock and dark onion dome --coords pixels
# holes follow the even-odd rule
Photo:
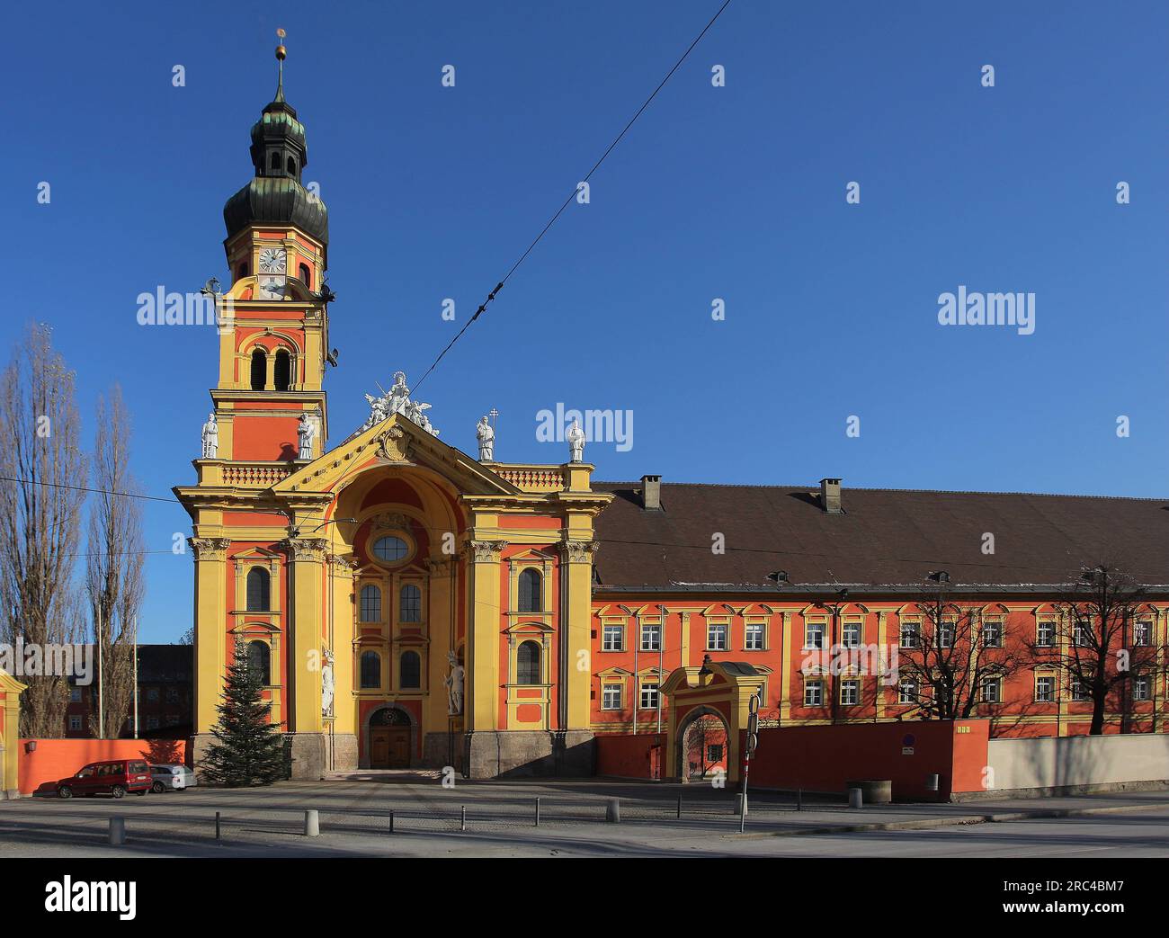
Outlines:
[[[251,181],[223,206],[231,289],[220,310],[219,381],[212,392],[219,457],[286,462],[319,455],[327,439],[324,371],[328,211],[303,184],[304,125],[284,99],[284,46],[276,97],[251,127]],[[313,453],[300,453],[300,416]]]

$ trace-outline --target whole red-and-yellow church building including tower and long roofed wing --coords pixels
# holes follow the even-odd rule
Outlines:
[[[819,653],[912,655],[938,558],[978,634],[999,636],[1003,667],[967,678],[973,715],[1085,732],[1091,705],[1057,661],[1060,585],[1120,543],[1153,573],[1125,636],[1143,664],[1107,731],[1163,731],[1169,512],[1154,499],[601,483],[573,435],[539,465],[497,461],[485,420],[475,456],[448,444],[401,374],[364,427],[331,434],[328,216],[283,83],[250,152],[223,211],[213,411],[196,480],[174,490],[193,523],[196,765],[237,654],[265,675],[297,778],[587,775],[597,736],[664,739],[659,689],[707,662],[758,676],[768,725],[909,719],[921,689],[891,680],[884,651],[874,668]],[[1031,648],[1044,634],[1050,661]],[[1012,643],[1025,667],[1007,667]],[[684,772],[670,756],[665,774]]]

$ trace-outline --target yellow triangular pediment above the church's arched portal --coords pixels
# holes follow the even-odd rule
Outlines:
[[[277,496],[336,492],[365,469],[421,465],[450,480],[468,495],[519,495],[520,490],[461,449],[442,442],[402,414],[351,436],[272,487]]]

